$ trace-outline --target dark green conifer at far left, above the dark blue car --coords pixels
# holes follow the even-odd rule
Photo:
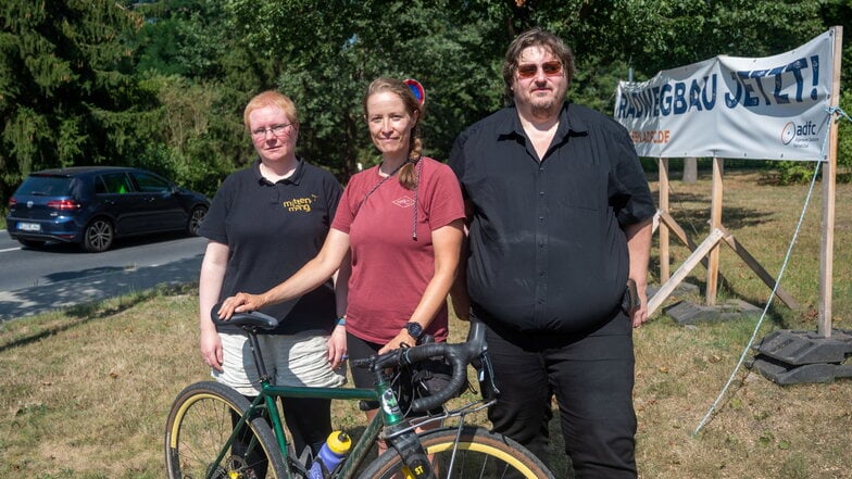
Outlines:
[[[148,101],[126,42],[138,18],[109,0],[0,9],[0,198],[34,169],[133,154]]]

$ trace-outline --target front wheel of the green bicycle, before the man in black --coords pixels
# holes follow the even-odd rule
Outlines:
[[[483,428],[466,427],[462,430],[456,446],[456,432],[455,429],[440,429],[419,438],[426,453],[433,457],[437,478],[553,479],[553,475],[538,457],[506,437]],[[367,466],[361,477],[409,479],[414,476],[403,465],[399,453],[390,449]]]

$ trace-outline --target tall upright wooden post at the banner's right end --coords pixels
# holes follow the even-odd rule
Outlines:
[[[835,64],[831,79],[830,104],[836,108],[840,99],[840,64],[843,51],[843,27],[835,30]],[[834,290],[834,250],[835,250],[835,192],[837,179],[837,122],[829,117],[828,159],[823,164],[823,250],[819,257],[819,305],[817,335],[831,337],[831,292]]]

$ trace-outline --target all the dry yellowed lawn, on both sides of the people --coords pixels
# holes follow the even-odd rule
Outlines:
[[[760,180],[726,175],[724,223],[777,274],[806,188]],[[706,235],[709,191],[703,176],[693,186],[673,186],[673,214],[688,231],[694,228],[697,242]],[[782,281],[806,307],[792,312],[776,304],[759,338],[777,328],[815,328],[820,203],[813,201]],[[834,316],[845,329],[852,328],[852,212],[843,207],[850,201],[852,187],[839,186]],[[687,254],[677,248],[676,262]],[[727,248],[722,273],[723,297],[764,304],[768,288]],[[690,282],[702,285],[703,275],[697,268]],[[197,351],[196,294],[192,287],[162,290],[0,324],[0,477],[163,477],[166,412],[184,386],[208,377]],[[850,380],[779,387],[740,370],[712,420],[693,436],[754,324],[681,327],[657,316],[637,330],[641,477],[849,477]],[[464,325],[452,327],[460,338]],[[343,404],[336,415],[348,430],[363,424],[361,413]],[[554,444],[555,472],[567,477],[559,450]]]

